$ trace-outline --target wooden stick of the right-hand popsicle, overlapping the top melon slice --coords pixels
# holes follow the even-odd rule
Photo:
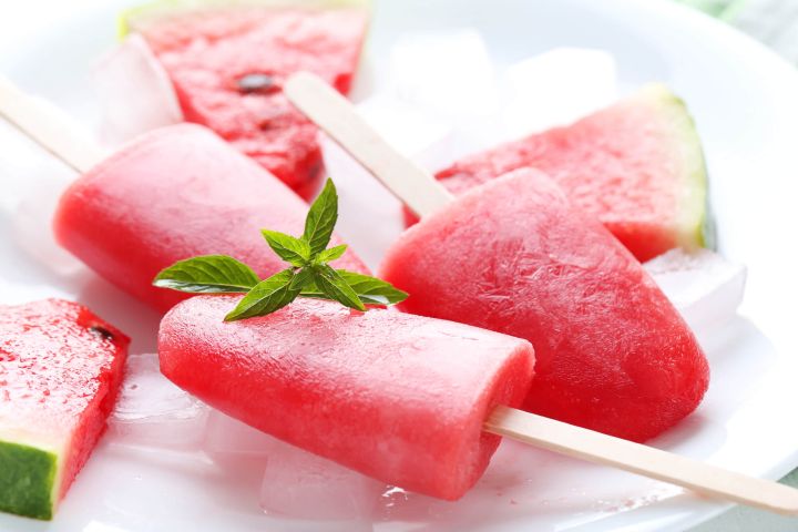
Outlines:
[[[417,215],[434,213],[453,197],[443,185],[397,152],[338,91],[307,72],[291,75],[283,91],[288,100],[374,174]]]

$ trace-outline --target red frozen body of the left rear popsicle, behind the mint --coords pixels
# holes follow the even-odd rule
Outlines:
[[[109,282],[163,311],[190,297],[155,288],[163,268],[231,255],[266,278],[286,268],[262,228],[301,235],[308,206],[209,130],[177,124],[142,135],[75,181],[55,237]],[[332,244],[340,244],[334,235]],[[335,265],[368,268],[351,250]]]

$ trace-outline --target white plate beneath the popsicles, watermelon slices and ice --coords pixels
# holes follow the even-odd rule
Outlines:
[[[113,42],[119,4],[31,2],[0,20],[0,70],[85,120],[95,113],[86,78]],[[8,9],[8,8],[7,8]],[[798,464],[794,335],[798,214],[798,75],[761,45],[664,1],[395,0],[379,2],[369,54],[380,64],[405,31],[477,28],[508,64],[560,45],[611,51],[625,88],[664,81],[688,102],[703,136],[720,249],[749,267],[741,317],[707,340],[710,390],[698,411],[659,447],[749,474],[778,478]],[[22,38],[24,35],[24,39]],[[10,44],[11,43],[11,44]],[[379,70],[379,69],[378,69]],[[2,129],[4,197],[34,186],[9,167],[59,172]],[[34,157],[34,158],[30,158]],[[42,209],[49,208],[45,203]],[[153,348],[157,316],[82,269],[51,273],[13,243],[0,221],[3,303],[61,295],[91,305]],[[68,265],[69,266],[69,265]],[[257,488],[224,479],[201,457],[132,456],[104,441],[51,523],[0,516],[13,531],[351,530],[264,516]],[[250,485],[252,484],[252,485]],[[459,503],[411,498],[375,530],[683,530],[724,510],[631,474],[503,446],[478,488]],[[371,525],[359,526],[370,530]]]

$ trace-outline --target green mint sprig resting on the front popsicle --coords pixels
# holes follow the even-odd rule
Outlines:
[[[330,299],[365,311],[366,305],[395,305],[407,294],[390,283],[328,263],[340,258],[345,244],[327,248],[338,222],[338,193],[327,180],[321,194],[310,206],[303,236],[262,229],[263,237],[289,267],[260,280],[246,264],[226,255],[205,255],[180,260],[162,270],[153,280],[161,288],[192,294],[246,294],[225,321],[266,316],[297,297]]]

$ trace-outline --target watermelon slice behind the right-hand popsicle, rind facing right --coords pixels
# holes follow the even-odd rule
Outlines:
[[[469,156],[438,178],[460,194],[522,167],[554,178],[641,262],[676,246],[712,245],[700,141],[684,103],[663,85],[570,126]]]

